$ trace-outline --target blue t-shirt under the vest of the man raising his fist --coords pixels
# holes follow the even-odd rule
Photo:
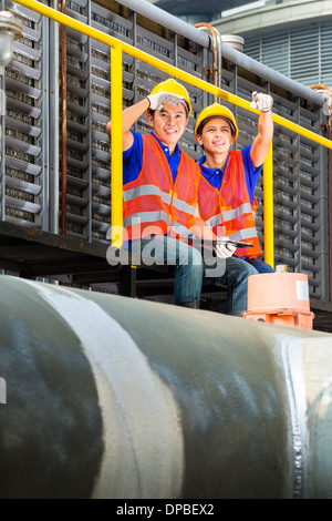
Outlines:
[[[248,188],[248,194],[250,198],[250,203],[253,203],[253,194],[255,194],[255,188],[257,184],[257,180],[261,173],[262,165],[259,168],[256,168],[256,166],[252,163],[250,152],[251,152],[251,146],[248,145],[245,149],[241,150],[241,155],[242,155],[242,161],[243,161],[243,167],[245,167],[245,175],[246,175],[246,184]],[[222,178],[225,171],[228,165],[228,160],[229,160],[229,154],[226,161],[226,165],[224,171],[219,168],[208,168],[207,166],[203,166],[203,163],[205,162],[206,157],[205,155],[200,157],[199,160],[199,166],[200,166],[200,172],[204,175],[204,177],[207,180],[207,182],[214,186],[214,188],[220,190]]]

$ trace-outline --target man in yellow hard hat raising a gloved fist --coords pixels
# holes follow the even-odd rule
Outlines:
[[[258,134],[241,151],[230,151],[239,130],[234,113],[226,106],[214,103],[204,109],[195,127],[205,153],[199,160],[199,213],[217,236],[250,244],[227,258],[222,282],[228,290],[226,311],[239,316],[247,309],[248,277],[273,272],[258,258],[261,249],[255,224],[255,187],[273,136],[272,104],[271,95],[252,93],[251,108],[260,111]]]

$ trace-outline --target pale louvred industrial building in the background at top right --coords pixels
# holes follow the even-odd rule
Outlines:
[[[329,0],[148,1],[188,23],[208,22],[220,34],[241,37],[246,54],[304,85],[332,85]]]

